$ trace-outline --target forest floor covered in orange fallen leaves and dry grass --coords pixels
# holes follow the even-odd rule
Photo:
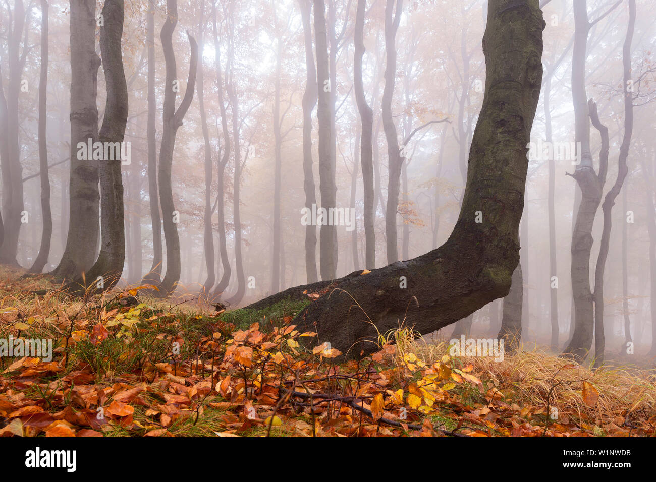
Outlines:
[[[213,313],[138,287],[72,298],[23,275],[0,267],[0,436],[656,435],[653,370],[456,357],[408,327],[340,361],[302,348],[315,334],[290,324],[298,304]],[[25,340],[52,351],[19,351]]]

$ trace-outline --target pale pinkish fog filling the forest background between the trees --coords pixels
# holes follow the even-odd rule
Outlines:
[[[26,269],[37,259],[44,225],[40,176],[43,153],[39,155],[43,3],[16,0],[0,5],[3,262],[15,262]],[[148,281],[147,275],[154,264],[164,275],[171,263],[167,256],[169,238],[164,231],[155,234],[163,245],[161,263],[157,263],[155,255],[152,171],[149,174],[149,151],[151,167],[153,159],[161,164],[161,144],[163,137],[168,136],[163,125],[168,77],[160,37],[167,21],[166,3],[125,1],[122,52],[129,111],[125,144],[120,151],[125,262],[119,286],[140,285],[142,279]],[[174,2],[169,0],[171,3]],[[363,131],[354,70],[358,3],[325,1],[325,62],[318,53],[321,31],[316,31],[317,5],[312,9],[312,2],[190,0],[178,3],[172,37],[176,64],[171,89],[176,94],[174,108],[184,104],[190,89],[194,90],[194,96],[174,132],[171,193],[173,224],[180,240],[180,273],[174,296],[195,300],[211,294],[228,308],[237,308],[318,279],[342,277],[352,271],[410,260],[440,247],[448,239],[459,217],[469,147],[483,95],[490,87],[485,83],[482,47],[487,2],[406,0],[396,11],[398,3],[394,1],[366,2],[361,70],[364,98],[373,112],[373,264],[366,259],[366,176],[363,176]],[[386,50],[386,4],[394,6],[388,7],[388,34],[398,21],[393,41],[396,51],[393,92],[390,92],[391,76],[385,75],[390,60],[389,45]],[[17,27],[23,5],[24,28]],[[610,211],[612,224],[603,276],[605,350],[609,358],[622,358],[634,352],[655,355],[656,67],[651,50],[656,41],[653,28],[656,4],[649,0],[636,1],[628,50],[628,83],[623,66],[628,1],[587,1],[584,11],[589,31],[582,51],[582,44],[575,42],[573,3],[543,0],[541,5],[544,5],[546,24],[543,78],[531,145],[527,146],[528,172],[520,224],[522,340],[526,346],[552,345],[562,350],[573,333],[572,240],[582,199],[574,176],[581,163],[586,165],[590,161],[582,158],[585,146],[582,150],[581,144],[577,144],[581,135],[577,136],[574,98],[579,102],[583,98],[583,109],[588,108],[586,100],[592,99],[593,117],[596,109],[598,120],[607,128],[608,150],[607,174],[590,233],[592,246],[586,275],[594,292],[604,227],[602,203],[618,177],[624,142],[628,147],[628,171]],[[96,15],[101,14],[102,6],[103,2],[99,1]],[[304,9],[309,20],[305,26]],[[150,62],[148,12],[152,12],[154,20]],[[81,200],[83,197],[71,197],[70,193],[71,159],[77,157],[79,162],[84,159],[80,157],[77,141],[72,145],[72,102],[76,99],[71,98],[71,62],[75,58],[75,54],[72,58],[71,35],[75,26],[70,25],[69,3],[49,2],[48,18],[45,146],[52,235],[44,273],[60,264],[75,212],[72,203],[75,207],[76,203],[85,202]],[[98,38],[102,29],[99,24],[102,18],[96,22]],[[311,27],[309,32],[308,27]],[[16,28],[21,29],[20,35],[16,35]],[[198,45],[195,85],[188,82],[193,54],[186,32]],[[319,112],[308,100],[312,107],[311,125],[306,123],[305,127],[311,128],[312,144],[311,147],[306,144],[304,154],[303,99],[308,85],[308,38],[312,70],[318,75],[314,89],[318,90]],[[95,49],[100,55],[98,40]],[[584,75],[583,83],[579,84],[584,87],[583,97],[576,87],[577,66]],[[103,68],[101,64],[98,70],[98,127],[103,123],[108,92]],[[149,69],[154,74],[154,111],[148,102]],[[386,90],[391,94],[388,105],[391,127],[396,131],[396,146],[392,150],[400,152],[400,166],[394,159],[390,162],[388,155],[390,124],[386,128]],[[627,93],[632,104],[628,144]],[[16,98],[17,124],[12,117]],[[321,110],[322,99],[327,110]],[[151,146],[149,112],[154,118]],[[325,125],[332,125],[332,115],[334,140],[327,136],[322,144],[319,132],[324,121]],[[603,163],[600,155],[604,157],[603,129],[597,129],[596,119],[589,121],[588,113],[582,119],[586,127],[581,127],[580,132],[589,131],[588,152],[592,168],[598,174]],[[10,160],[14,142],[18,147],[18,164]],[[94,157],[93,150],[91,146],[87,157]],[[312,176],[307,175],[308,153],[312,156]],[[328,169],[323,179],[322,160]],[[17,165],[22,169],[22,209],[16,208],[15,196],[9,194],[10,190],[12,193],[17,190]],[[334,202],[331,201],[331,167],[336,188]],[[160,183],[161,180],[160,172]],[[398,203],[390,205],[390,186],[395,181],[398,181]],[[310,191],[312,195],[308,197]],[[395,195],[392,191],[392,197]],[[312,197],[314,202],[308,202]],[[155,206],[158,205],[155,199]],[[322,207],[326,209],[323,216]],[[168,222],[169,211],[164,203],[161,209],[161,217]],[[390,212],[394,218],[391,228],[386,225],[386,220],[390,224]],[[159,207],[156,214],[159,218]],[[19,215],[20,223],[12,224],[12,219]],[[482,222],[487,222],[485,215],[483,211]],[[321,226],[322,219],[326,224],[328,221],[334,224],[335,229]],[[98,240],[94,256],[102,245],[102,222],[100,225],[100,230],[96,229],[98,234],[94,235]],[[310,252],[315,254],[311,257],[317,279],[308,279],[308,272],[312,271],[308,271],[306,253],[308,227],[316,233],[316,245],[310,244]],[[166,224],[163,229],[167,229]],[[207,236],[209,230],[211,239]],[[15,247],[8,241],[13,233],[18,234]],[[390,240],[390,235],[396,237],[396,243]],[[590,243],[586,233],[577,239],[579,243]],[[396,258],[390,252],[390,241]],[[87,248],[78,245],[75,251]],[[325,248],[323,252],[322,248]],[[230,269],[229,276],[225,275],[226,266]],[[84,271],[90,267],[81,268]],[[575,271],[578,275],[583,273],[580,269]],[[222,280],[227,285],[217,290]],[[496,334],[501,325],[502,304],[503,299],[499,298],[476,311],[471,329],[465,331],[485,336]],[[556,340],[552,335],[554,321]],[[453,325],[444,327],[440,336],[449,338],[453,330]]]

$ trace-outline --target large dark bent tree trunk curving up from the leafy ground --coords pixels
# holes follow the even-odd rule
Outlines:
[[[544,21],[537,0],[491,0],[483,35],[486,82],[458,221],[449,239],[418,258],[352,273],[293,323],[350,356],[377,350],[401,322],[425,334],[506,296],[519,261],[526,146],[542,81]],[[477,217],[482,222],[476,222]],[[319,284],[319,283],[317,283]],[[258,302],[302,292],[292,288]]]

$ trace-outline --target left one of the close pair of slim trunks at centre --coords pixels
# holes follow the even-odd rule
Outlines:
[[[305,41],[306,81],[303,92],[303,190],[305,192],[305,207],[312,210],[317,203],[312,172],[312,111],[317,105],[317,73],[312,52],[312,28],[310,24],[310,9],[312,0],[298,0],[300,16],[303,23]],[[317,228],[312,223],[305,227],[305,271],[308,283],[316,283],[317,275]]]

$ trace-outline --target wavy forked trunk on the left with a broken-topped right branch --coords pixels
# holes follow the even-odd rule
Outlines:
[[[171,167],[173,165],[173,148],[178,127],[187,113],[194,98],[194,84],[196,81],[196,66],[198,62],[198,47],[189,32],[187,37],[191,49],[189,62],[189,77],[184,97],[178,110],[175,110],[178,79],[173,52],[173,31],[178,23],[178,5],[176,0],[167,0],[167,20],[160,33],[164,62],[166,64],[166,84],[164,89],[164,104],[162,110],[162,141],[159,148],[159,202],[161,203],[164,224],[164,238],[166,241],[166,274],[161,283],[162,295],[171,294],[180,280],[180,237],[176,220],[174,220],[175,207],[173,204],[173,190],[171,186]]]

